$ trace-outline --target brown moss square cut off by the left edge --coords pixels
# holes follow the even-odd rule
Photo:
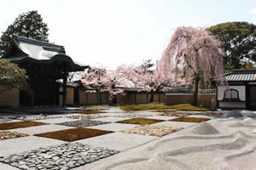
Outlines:
[[[46,125],[48,123],[44,122],[6,122],[0,124],[0,130],[9,130],[14,128],[22,128],[22,127],[35,127]]]

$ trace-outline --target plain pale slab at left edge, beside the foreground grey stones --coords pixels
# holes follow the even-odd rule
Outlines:
[[[55,139],[40,138],[37,136],[0,140],[0,156],[9,156],[15,153],[35,150],[40,147],[64,143],[66,142]]]

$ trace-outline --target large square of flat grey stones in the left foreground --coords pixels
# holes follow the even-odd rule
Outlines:
[[[91,147],[88,144],[67,143],[5,157],[1,156],[0,161],[26,170],[67,170],[117,153],[119,153],[117,150]]]

